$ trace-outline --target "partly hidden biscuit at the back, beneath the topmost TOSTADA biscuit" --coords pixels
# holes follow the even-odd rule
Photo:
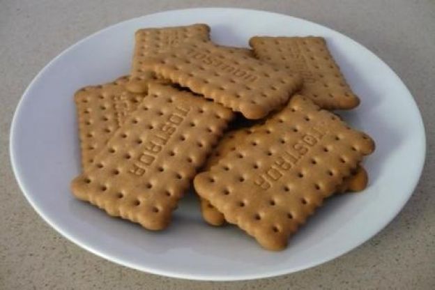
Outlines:
[[[128,89],[132,92],[146,91],[148,81],[153,74],[143,68],[142,63],[147,56],[164,52],[183,41],[192,39],[210,40],[210,27],[207,24],[192,24],[187,26],[171,26],[162,28],[139,29],[135,33],[135,50],[133,52],[131,80]]]

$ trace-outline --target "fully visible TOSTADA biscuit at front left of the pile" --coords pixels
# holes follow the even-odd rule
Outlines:
[[[148,96],[72,181],[73,194],[109,215],[164,229],[233,116],[192,93],[150,83]]]

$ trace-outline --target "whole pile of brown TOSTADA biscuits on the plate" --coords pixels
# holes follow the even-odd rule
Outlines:
[[[137,31],[130,75],[75,94],[75,197],[162,230],[193,184],[208,224],[283,250],[323,199],[363,190],[374,142],[330,112],[360,100],[326,40],[249,43],[216,45],[206,24]]]

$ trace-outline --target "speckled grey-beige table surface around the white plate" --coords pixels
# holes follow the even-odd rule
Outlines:
[[[408,204],[386,229],[327,264],[264,280],[195,282],[113,264],[38,217],[10,167],[13,112],[31,79],[105,26],[190,7],[270,10],[324,24],[362,43],[409,86],[427,132],[427,160]],[[0,289],[435,289],[435,1],[0,0]],[[432,176],[432,178],[431,178]]]

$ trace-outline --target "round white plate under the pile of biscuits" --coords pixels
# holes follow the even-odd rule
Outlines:
[[[369,187],[327,201],[283,252],[261,249],[235,227],[208,227],[187,197],[171,227],[154,233],[110,218],[73,198],[79,144],[73,93],[110,82],[130,68],[133,34],[148,26],[205,22],[222,45],[250,36],[323,36],[361,105],[345,119],[376,141],[365,162]],[[199,8],[128,20],[85,38],[33,79],[17,107],[10,155],[31,205],[63,236],[101,257],[146,272],[197,280],[244,280],[295,272],[330,261],[364,243],[392,220],[415,188],[425,160],[425,131],[413,97],[386,63],[346,36],[287,15]]]

